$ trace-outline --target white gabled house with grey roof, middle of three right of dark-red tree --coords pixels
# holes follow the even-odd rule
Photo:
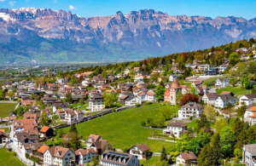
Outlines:
[[[214,107],[218,108],[224,108],[229,103],[233,106],[237,102],[237,99],[232,97],[230,94],[223,94],[219,95],[218,98],[215,101]]]

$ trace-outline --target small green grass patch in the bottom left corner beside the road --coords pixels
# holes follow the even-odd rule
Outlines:
[[[12,152],[8,152],[6,148],[0,148],[0,165],[2,166],[26,166],[24,163],[13,155]]]

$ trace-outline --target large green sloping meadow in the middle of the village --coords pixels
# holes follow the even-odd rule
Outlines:
[[[161,152],[162,146],[166,147],[166,151],[173,151],[175,149],[175,144],[173,143],[148,140],[150,132],[159,135],[162,133],[161,130],[143,129],[141,127],[142,121],[146,121],[148,117],[157,119],[160,107],[164,107],[166,110],[170,109],[172,113],[177,113],[177,106],[153,104],[114,112],[86,123],[79,123],[76,127],[84,140],[90,134],[101,135],[103,139],[110,141],[118,149],[129,148],[138,143],[145,143],[151,148],[151,152]],[[68,129],[64,129],[64,131],[68,132]]]

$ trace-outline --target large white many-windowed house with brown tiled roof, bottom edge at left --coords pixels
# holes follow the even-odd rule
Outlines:
[[[76,156],[73,149],[69,149],[61,146],[51,147],[44,152],[44,166],[74,165],[75,159],[76,159]]]

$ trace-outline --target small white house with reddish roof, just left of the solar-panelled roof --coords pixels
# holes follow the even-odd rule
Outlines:
[[[96,151],[93,148],[79,149],[75,154],[77,156],[77,163],[82,165],[90,163],[92,161],[92,157],[96,157]]]

